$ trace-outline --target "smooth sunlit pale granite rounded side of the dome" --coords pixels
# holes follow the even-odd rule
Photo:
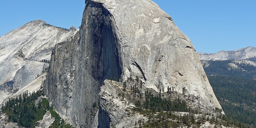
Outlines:
[[[102,4],[110,12],[123,80],[139,76],[148,88],[166,92],[167,87],[174,87],[177,92],[199,96],[206,107],[221,108],[189,38],[154,2],[86,2],[89,7],[91,2]]]

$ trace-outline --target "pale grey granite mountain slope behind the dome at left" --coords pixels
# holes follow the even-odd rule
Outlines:
[[[11,91],[22,89],[46,72],[55,44],[69,40],[75,32],[74,28],[68,30],[34,20],[1,36],[0,104]],[[44,76],[32,85],[39,85],[39,89]]]

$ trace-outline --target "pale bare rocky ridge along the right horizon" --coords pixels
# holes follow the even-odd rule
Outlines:
[[[253,61],[255,59],[250,59],[250,58],[256,58],[256,48],[249,46],[246,48],[240,48],[238,50],[233,50],[233,51],[222,50],[214,54],[202,53],[202,52],[198,52],[197,54],[200,60],[246,60],[246,59],[249,59]]]

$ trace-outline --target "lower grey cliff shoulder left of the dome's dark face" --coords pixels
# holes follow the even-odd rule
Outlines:
[[[76,106],[76,104],[72,106],[74,89],[79,90],[74,84],[76,48],[78,48],[77,43],[74,42],[77,42],[78,33],[77,31],[70,42],[58,43],[54,47],[46,76],[46,86],[44,86],[44,90],[48,94],[48,100],[64,119],[71,118],[72,108],[78,109],[82,107]],[[75,115],[74,118],[76,118]]]

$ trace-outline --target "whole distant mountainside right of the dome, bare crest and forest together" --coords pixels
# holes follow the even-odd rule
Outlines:
[[[249,124],[252,128],[256,124],[255,55],[254,47],[215,54],[198,53],[226,116],[231,120]]]

